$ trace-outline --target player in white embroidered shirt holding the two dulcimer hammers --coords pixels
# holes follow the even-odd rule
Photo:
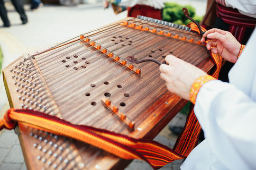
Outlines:
[[[161,78],[172,93],[195,104],[205,139],[183,162],[182,170],[256,169],[256,30],[247,46],[228,31],[210,29],[207,49],[235,63],[229,83],[172,55],[160,66]]]

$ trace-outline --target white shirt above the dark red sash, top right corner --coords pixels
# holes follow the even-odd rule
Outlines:
[[[241,14],[256,18],[256,0],[225,0],[227,7],[237,8]]]

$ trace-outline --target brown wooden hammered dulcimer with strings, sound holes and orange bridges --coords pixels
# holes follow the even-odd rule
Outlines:
[[[200,43],[199,35],[188,27],[176,27],[127,18],[28,53],[4,69],[11,106],[43,111],[74,124],[144,137],[141,129],[150,132],[157,121],[148,121],[152,119],[149,108],[168,91],[160,78],[159,65],[133,64],[127,57],[163,62],[173,54],[199,68],[209,61],[209,52]],[[163,117],[163,113],[154,112],[154,119]],[[94,160],[114,157],[23,125],[20,131],[30,168],[91,169],[95,168]]]

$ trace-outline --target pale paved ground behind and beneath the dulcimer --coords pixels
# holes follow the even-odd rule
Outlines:
[[[6,7],[11,27],[1,27],[0,21],[0,46],[4,56],[3,68],[23,53],[62,42],[127,16],[126,11],[115,15],[111,8],[103,10],[101,0],[85,2],[87,3],[73,7],[44,5],[35,11],[29,10],[29,6],[25,5],[29,22],[26,25],[21,25],[18,13],[14,11],[13,6],[7,0]],[[206,0],[179,0],[178,2],[196,7],[198,15],[205,13]],[[8,108],[2,75],[0,75],[0,117]],[[184,115],[178,114],[169,125],[182,126],[184,122]],[[173,147],[176,137],[166,126],[155,137],[155,140]],[[179,170],[181,163],[182,160],[174,161],[161,170]],[[26,170],[18,137],[14,131],[3,130],[0,132],[0,170]],[[126,170],[152,170],[152,168],[143,161],[134,160]]]

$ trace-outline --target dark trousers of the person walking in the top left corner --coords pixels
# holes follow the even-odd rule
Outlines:
[[[16,11],[19,13],[20,15],[20,19],[23,22],[27,21],[27,16],[25,14],[25,10],[23,8],[23,3],[22,0],[11,0],[14,8],[16,9]],[[4,23],[4,25],[9,25],[9,19],[7,17],[7,10],[4,6],[4,0],[0,0],[0,17]]]

